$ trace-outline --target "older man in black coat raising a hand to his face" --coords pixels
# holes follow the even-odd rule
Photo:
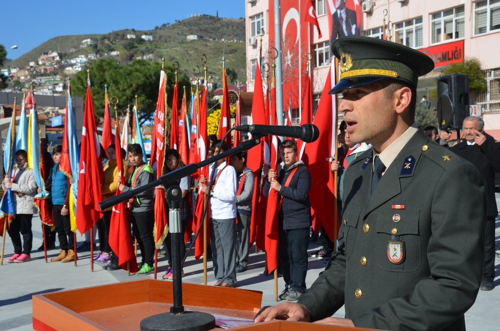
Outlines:
[[[466,117],[463,120],[462,130],[465,141],[457,143],[451,147],[451,150],[474,164],[484,182],[487,219],[480,289],[491,290],[494,287],[495,276],[495,217],[498,215],[495,200],[495,172],[500,171],[500,152],[495,143],[481,132],[481,120],[478,117]]]

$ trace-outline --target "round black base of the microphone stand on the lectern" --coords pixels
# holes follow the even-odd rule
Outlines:
[[[200,311],[184,311],[180,314],[165,312],[144,318],[141,331],[206,331],[215,327],[215,318]]]

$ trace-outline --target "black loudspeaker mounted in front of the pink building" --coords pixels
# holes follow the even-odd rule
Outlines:
[[[468,76],[453,73],[437,78],[437,121],[440,129],[460,129],[468,115]]]

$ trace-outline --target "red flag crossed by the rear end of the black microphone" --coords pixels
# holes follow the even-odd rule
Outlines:
[[[264,109],[264,92],[262,89],[262,75],[260,68],[257,65],[255,68],[255,84],[253,90],[253,99],[251,107],[251,124],[265,124],[265,109]],[[257,229],[257,204],[259,198],[259,183],[262,173],[263,159],[263,142],[259,145],[250,148],[247,153],[246,166],[248,166],[255,176],[253,195],[252,195],[252,213],[250,220],[250,245],[255,241]]]

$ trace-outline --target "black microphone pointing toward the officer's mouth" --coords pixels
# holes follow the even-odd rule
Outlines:
[[[300,126],[246,124],[237,125],[234,129],[248,133],[282,135],[285,137],[298,138],[304,142],[313,142],[319,137],[319,129],[312,123],[306,123]]]

